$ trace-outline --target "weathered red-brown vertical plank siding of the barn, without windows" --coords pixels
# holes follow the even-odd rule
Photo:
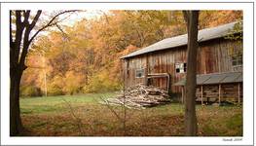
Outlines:
[[[232,58],[231,55],[229,55],[230,48],[238,49],[241,47],[242,44],[231,40],[225,40],[223,38],[202,42],[198,53],[197,73],[208,74],[242,70],[242,67],[233,67]],[[126,58],[125,78],[127,87],[144,83],[144,78],[135,78],[135,70],[139,68],[146,68],[146,66],[148,66],[148,74],[169,73],[171,77],[171,85],[180,81],[181,78],[185,76],[185,73],[176,73],[175,63],[187,62],[186,48],[186,46],[183,46],[149,53],[147,55],[136,55]],[[146,64],[147,57],[148,65]],[[152,79],[150,84],[163,89],[165,89],[167,85],[165,78]],[[171,86],[171,91],[181,92],[181,88]]]

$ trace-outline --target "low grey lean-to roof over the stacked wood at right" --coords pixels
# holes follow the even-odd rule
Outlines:
[[[213,85],[242,82],[242,72],[225,72],[197,75],[197,85]],[[186,79],[183,78],[174,86],[185,86]]]

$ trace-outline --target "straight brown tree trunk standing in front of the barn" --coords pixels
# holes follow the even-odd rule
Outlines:
[[[185,11],[184,18],[188,31],[188,67],[185,98],[185,135],[197,135],[196,87],[199,11]]]

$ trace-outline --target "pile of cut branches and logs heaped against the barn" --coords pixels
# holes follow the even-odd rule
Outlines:
[[[116,98],[104,100],[105,104],[123,105],[128,108],[145,108],[170,102],[167,91],[152,86],[136,85]]]

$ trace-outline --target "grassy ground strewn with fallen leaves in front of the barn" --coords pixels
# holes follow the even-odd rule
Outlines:
[[[21,118],[29,136],[182,136],[184,107],[178,103],[124,109],[99,104],[115,93],[21,98]],[[118,116],[117,116],[118,115]],[[118,118],[119,117],[119,118]],[[242,107],[197,105],[200,136],[241,136]]]

